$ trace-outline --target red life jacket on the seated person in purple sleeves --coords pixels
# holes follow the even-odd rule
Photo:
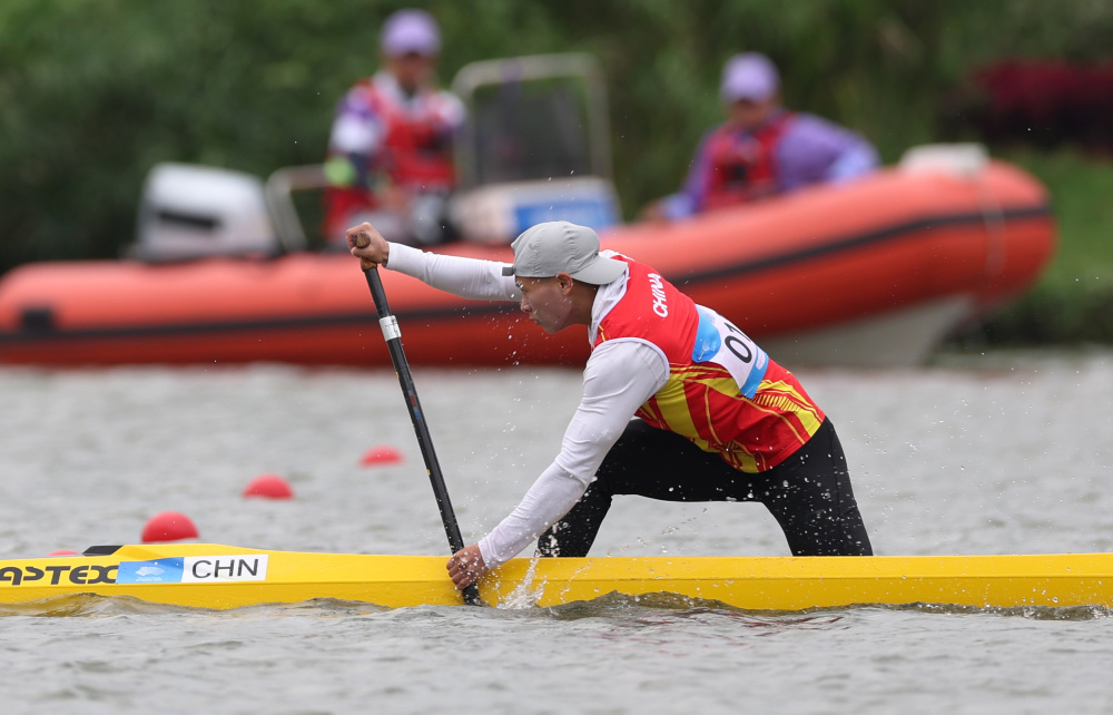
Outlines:
[[[791,126],[794,115],[782,111],[757,131],[739,131],[723,125],[707,140],[710,180],[703,208],[742,204],[778,190],[777,145]]]

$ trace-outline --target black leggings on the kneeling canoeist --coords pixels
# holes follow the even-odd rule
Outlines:
[[[794,556],[873,555],[830,420],[791,457],[756,474],[737,471],[674,432],[631,420],[580,501],[541,535],[538,552],[587,556],[615,494],[760,501],[785,530]]]

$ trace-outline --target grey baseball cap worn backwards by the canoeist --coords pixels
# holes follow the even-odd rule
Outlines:
[[[503,275],[551,278],[567,273],[577,281],[603,285],[617,281],[626,263],[599,255],[599,235],[587,226],[550,221],[522,232],[514,243],[514,265]]]

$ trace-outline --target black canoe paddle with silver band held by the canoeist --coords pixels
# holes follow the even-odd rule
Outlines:
[[[371,243],[367,234],[363,233],[356,234],[354,241],[355,245],[359,248],[364,248]],[[433,484],[433,496],[436,497],[436,508],[441,510],[441,523],[444,525],[444,533],[449,537],[449,548],[452,549],[452,554],[455,554],[464,548],[464,538],[460,535],[456,512],[452,509],[449,490],[444,486],[441,463],[436,460],[436,452],[433,451],[433,438],[430,437],[429,425],[425,423],[425,412],[422,410],[421,401],[417,399],[417,389],[414,386],[414,379],[410,373],[410,362],[406,360],[405,351],[402,350],[402,330],[398,327],[398,319],[394,317],[394,314],[391,313],[391,306],[386,302],[386,291],[383,290],[383,281],[378,277],[378,266],[372,265],[367,267],[366,262],[362,262],[361,267],[363,268],[363,274],[367,276],[367,287],[371,288],[371,296],[375,301],[375,310],[378,311],[378,325],[383,329],[386,347],[391,351],[391,362],[394,363],[394,371],[398,374],[402,395],[405,398],[406,408],[410,410],[410,421],[413,422],[414,432],[417,434],[421,456],[425,460],[429,480]],[[475,584],[464,589],[464,603],[470,606],[484,605]]]

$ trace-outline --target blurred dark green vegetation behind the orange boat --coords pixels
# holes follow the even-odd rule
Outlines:
[[[1113,0],[3,0],[0,271],[119,255],[158,161],[260,177],[319,161],[334,102],[374,71],[378,26],[407,4],[441,22],[445,84],[477,59],[595,55],[628,216],[681,180],[737,51],[770,55],[789,106],[854,127],[890,163],[976,138],[955,99],[973,68],[1104,59],[1113,37]],[[988,337],[1113,340],[1110,164],[1068,143],[993,149],[1048,185],[1061,251]]]

